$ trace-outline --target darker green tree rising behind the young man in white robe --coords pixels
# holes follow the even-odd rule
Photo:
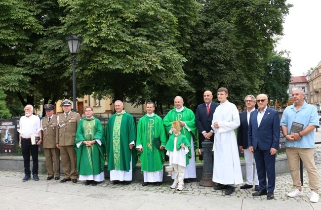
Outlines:
[[[202,102],[205,89],[229,89],[229,100],[243,104],[264,83],[264,64],[282,35],[282,22],[290,4],[285,0],[198,0],[201,21],[195,27],[187,59],[189,81]],[[194,79],[194,80],[192,80]]]

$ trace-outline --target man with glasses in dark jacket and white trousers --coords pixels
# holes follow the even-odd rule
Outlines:
[[[245,158],[245,172],[246,172],[246,182],[240,189],[252,188],[253,176],[254,176],[254,185],[255,191],[260,190],[259,178],[257,177],[256,167],[254,167],[253,172],[253,154],[249,151],[247,147],[247,130],[248,122],[250,120],[250,115],[255,111],[256,98],[254,95],[247,95],[244,98],[246,110],[240,113],[240,122],[241,125],[238,128],[238,146],[239,150],[244,153]],[[254,161],[255,166],[255,161]]]

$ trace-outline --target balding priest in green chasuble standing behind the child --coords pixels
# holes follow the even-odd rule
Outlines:
[[[196,127],[195,115],[192,110],[183,106],[184,100],[181,96],[174,98],[175,108],[170,110],[163,119],[167,135],[173,135],[172,122],[180,121],[182,124],[181,133],[191,142],[189,151],[190,164],[185,168],[185,183],[191,182],[190,178],[196,178],[195,151],[199,148],[199,133]],[[173,178],[173,176],[172,176]]]

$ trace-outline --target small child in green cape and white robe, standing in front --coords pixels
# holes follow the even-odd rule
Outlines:
[[[168,139],[165,149],[166,155],[169,156],[169,166],[174,168],[174,182],[170,186],[171,189],[177,187],[178,191],[184,189],[184,174],[185,168],[189,165],[189,148],[191,144],[185,135],[181,134],[181,122],[175,121],[172,123],[173,135]]]

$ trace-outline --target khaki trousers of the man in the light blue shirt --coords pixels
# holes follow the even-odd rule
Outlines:
[[[300,180],[300,158],[304,168],[307,170],[309,187],[311,191],[319,193],[319,175],[314,162],[314,148],[293,148],[286,147],[286,157],[289,164],[290,174],[293,179],[293,186],[301,190]]]

